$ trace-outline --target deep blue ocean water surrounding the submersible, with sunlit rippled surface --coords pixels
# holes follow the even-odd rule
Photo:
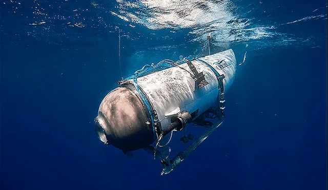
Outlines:
[[[327,188],[327,2],[3,0],[0,189]],[[232,48],[226,119],[172,173],[101,143],[101,100],[145,64]],[[120,57],[118,56],[118,36]]]

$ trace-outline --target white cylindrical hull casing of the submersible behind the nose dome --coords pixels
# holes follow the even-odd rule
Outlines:
[[[177,108],[189,113],[198,110],[198,115],[200,115],[216,103],[218,80],[210,67],[225,76],[224,90],[227,91],[230,88],[236,71],[236,58],[231,49],[199,58],[199,60],[193,60],[192,64],[198,73],[203,72],[205,79],[209,82],[201,89],[195,87],[190,74],[192,71],[187,63],[137,78],[139,87],[145,92],[159,119],[165,118]],[[161,128],[165,129],[170,123],[170,118],[163,119]]]

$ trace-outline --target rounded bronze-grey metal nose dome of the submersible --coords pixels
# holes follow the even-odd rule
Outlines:
[[[151,125],[139,94],[133,86],[119,87],[100,103],[95,132],[105,144],[134,151],[154,141]]]

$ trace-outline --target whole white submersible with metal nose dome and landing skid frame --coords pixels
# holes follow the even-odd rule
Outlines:
[[[224,120],[224,93],[235,78],[236,57],[232,49],[216,54],[146,65],[118,81],[100,103],[95,118],[98,138],[128,154],[145,149],[160,159],[163,174],[170,173]],[[209,121],[215,118],[215,121]],[[213,121],[213,122],[212,122]],[[187,125],[205,126],[197,139],[174,158],[163,137]],[[171,138],[170,138],[171,139]]]

